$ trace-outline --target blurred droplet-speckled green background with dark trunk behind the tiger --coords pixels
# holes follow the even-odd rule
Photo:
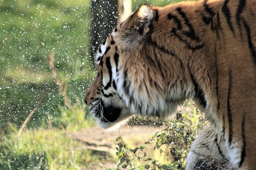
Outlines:
[[[40,127],[47,114],[58,119],[60,106],[83,105],[95,75],[93,53],[124,9],[142,3],[170,2],[1,0],[0,129],[21,126],[38,102],[27,126]]]

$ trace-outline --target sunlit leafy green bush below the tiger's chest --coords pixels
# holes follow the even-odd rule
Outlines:
[[[186,106],[191,106],[188,102]],[[193,107],[191,113],[177,113],[175,120],[165,121],[166,128],[157,132],[152,139],[131,148],[123,138],[116,138],[118,168],[130,170],[184,170],[186,155],[192,142],[206,122],[200,110]]]

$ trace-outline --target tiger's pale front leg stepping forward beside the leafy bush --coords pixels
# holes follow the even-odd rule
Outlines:
[[[222,155],[213,126],[208,124],[193,142],[186,170],[236,170]]]

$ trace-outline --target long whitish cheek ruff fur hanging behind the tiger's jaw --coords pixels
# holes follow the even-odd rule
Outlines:
[[[131,80],[126,72],[117,73],[117,91],[132,114],[170,117],[171,113],[177,110],[178,104],[181,104],[166,102],[162,92],[151,89],[149,85],[146,86],[146,80],[142,80],[139,84]]]

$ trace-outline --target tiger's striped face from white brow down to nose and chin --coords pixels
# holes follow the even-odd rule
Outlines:
[[[120,98],[116,87],[117,62],[109,53],[115,44],[112,40],[108,44],[108,39],[101,45],[95,58],[97,76],[94,79],[88,92],[85,94],[85,103],[88,104],[90,112],[97,118],[97,122],[102,128],[110,128],[116,124],[122,124],[130,117],[123,100]],[[118,58],[118,55],[115,56]],[[96,88],[95,88],[96,87]]]

